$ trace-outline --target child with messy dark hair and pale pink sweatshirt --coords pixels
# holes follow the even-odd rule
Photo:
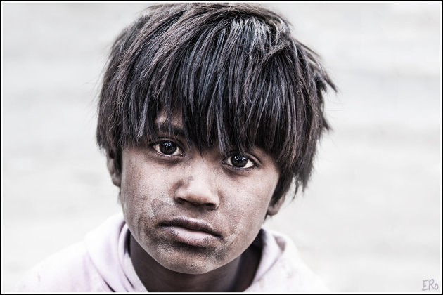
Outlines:
[[[150,6],[113,44],[98,105],[122,214],[19,291],[324,291],[262,224],[307,185],[327,86],[272,11]]]

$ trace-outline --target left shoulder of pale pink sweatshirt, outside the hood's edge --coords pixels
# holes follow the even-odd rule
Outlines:
[[[18,283],[20,292],[105,291],[84,242],[67,247],[29,270]]]

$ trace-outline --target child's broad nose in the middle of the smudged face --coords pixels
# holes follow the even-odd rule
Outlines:
[[[214,174],[210,164],[203,161],[188,166],[174,192],[174,199],[179,204],[217,209],[220,204]],[[212,171],[211,171],[212,170]]]

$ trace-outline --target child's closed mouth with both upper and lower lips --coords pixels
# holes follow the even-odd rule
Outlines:
[[[200,219],[179,216],[160,223],[173,240],[194,247],[210,247],[221,238],[217,230]]]

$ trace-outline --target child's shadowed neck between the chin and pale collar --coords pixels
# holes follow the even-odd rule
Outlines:
[[[244,291],[255,276],[260,249],[250,246],[233,261],[208,273],[190,275],[164,268],[129,238],[129,255],[141,282],[150,292],[226,292]]]

